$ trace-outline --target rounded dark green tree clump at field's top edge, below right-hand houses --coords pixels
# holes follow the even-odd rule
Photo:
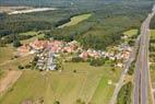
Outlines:
[[[95,66],[95,67],[103,66],[104,63],[105,63],[104,58],[92,59],[90,62],[91,66]]]

